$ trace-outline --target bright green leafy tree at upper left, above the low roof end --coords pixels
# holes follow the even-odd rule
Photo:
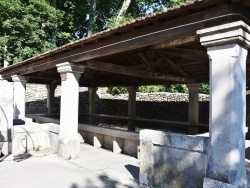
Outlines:
[[[0,64],[20,62],[55,48],[61,13],[45,0],[0,1]]]

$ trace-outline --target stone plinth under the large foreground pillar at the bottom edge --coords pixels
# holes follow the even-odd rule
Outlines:
[[[210,179],[210,178],[204,178],[203,181],[203,188],[247,188],[247,179],[244,178],[244,180],[238,182],[237,185],[225,183],[222,181],[218,181],[215,179]]]

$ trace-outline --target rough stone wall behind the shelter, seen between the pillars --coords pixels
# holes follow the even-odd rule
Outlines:
[[[60,111],[60,86],[55,91],[55,112]],[[79,113],[88,112],[88,89],[80,88]],[[127,116],[128,95],[112,96],[100,88],[96,96],[96,113]],[[200,94],[200,122],[208,123],[209,96]],[[47,90],[45,85],[27,84],[26,107],[46,107]],[[137,117],[187,121],[188,94],[179,93],[139,93],[137,92]]]

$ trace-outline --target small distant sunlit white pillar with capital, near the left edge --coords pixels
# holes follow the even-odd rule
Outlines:
[[[25,118],[25,92],[27,78],[20,75],[11,76],[14,82],[14,119]]]

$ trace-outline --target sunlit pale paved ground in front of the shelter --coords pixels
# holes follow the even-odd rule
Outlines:
[[[81,145],[81,156],[65,161],[56,155],[32,156],[0,162],[3,188],[127,188],[138,185],[135,158]],[[36,154],[37,155],[37,154]]]

